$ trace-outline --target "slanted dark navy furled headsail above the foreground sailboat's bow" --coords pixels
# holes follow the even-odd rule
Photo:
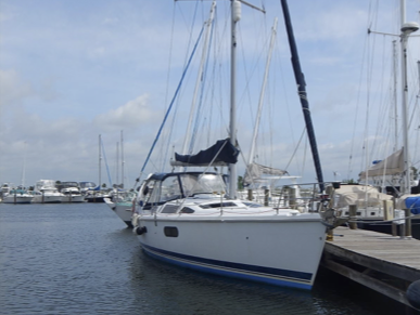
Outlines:
[[[296,43],[295,43],[294,35],[293,35],[292,22],[290,18],[289,8],[288,8],[288,3],[285,0],[281,0],[281,6],[283,8],[284,23],[285,23],[285,27],[288,30],[290,51],[292,53],[293,71],[294,71],[295,80],[297,83],[297,92],[298,92],[298,96],[301,99],[302,110],[303,110],[303,114],[305,117],[306,131],[308,134],[310,149],[313,153],[313,159],[314,159],[315,170],[317,173],[319,191],[320,191],[320,193],[323,193],[323,187],[324,187],[323,186],[323,176],[322,176],[321,163],[320,163],[319,155],[318,155],[317,142],[315,139],[314,126],[313,126],[313,121],[310,118],[309,103],[308,103],[307,95],[306,95],[306,88],[305,88],[306,83],[305,83],[304,75],[303,75],[302,69],[301,69],[301,63],[298,60],[297,48],[296,48]]]

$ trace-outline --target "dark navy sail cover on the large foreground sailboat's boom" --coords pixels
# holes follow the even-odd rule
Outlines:
[[[230,139],[219,140],[207,149],[203,149],[195,155],[175,154],[175,160],[191,166],[208,166],[220,163],[237,163],[239,149],[231,143]]]

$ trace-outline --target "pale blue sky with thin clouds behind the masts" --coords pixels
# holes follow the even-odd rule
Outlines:
[[[304,119],[280,1],[249,2],[266,13],[242,5],[238,23],[238,174],[250,160],[270,29],[278,17],[253,160],[315,182],[307,141],[300,141]],[[397,119],[391,114],[392,41],[399,44],[399,38],[367,31],[399,35],[399,1],[289,2],[323,179],[357,180],[369,160],[391,153],[392,128],[400,139],[400,114]],[[124,181],[125,187],[133,186],[209,5],[211,1],[0,0],[0,184],[30,186],[49,179],[107,186]],[[420,1],[407,0],[406,8],[406,21],[420,23]],[[203,91],[198,99],[211,105],[199,109],[203,116],[192,132],[194,153],[228,136],[229,1],[218,1],[216,12],[212,39],[220,48],[208,49],[204,88],[198,89]],[[182,152],[201,44],[145,173],[170,170],[169,157]],[[399,74],[399,48],[397,52]],[[410,37],[410,155],[420,169],[418,61],[420,37]]]

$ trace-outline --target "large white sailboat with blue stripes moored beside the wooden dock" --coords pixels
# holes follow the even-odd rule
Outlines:
[[[156,259],[211,274],[309,290],[326,239],[320,213],[263,207],[237,197],[234,61],[241,2],[231,1],[229,136],[195,155],[175,154],[171,166],[182,168],[180,171],[150,174],[136,200],[133,232],[144,252]],[[287,18],[285,1],[282,4]],[[213,2],[211,13],[215,6]],[[304,88],[301,84],[300,92]],[[229,168],[227,176],[219,169],[208,171],[224,166]],[[183,169],[188,167],[204,170]],[[322,192],[322,178],[318,179]]]

